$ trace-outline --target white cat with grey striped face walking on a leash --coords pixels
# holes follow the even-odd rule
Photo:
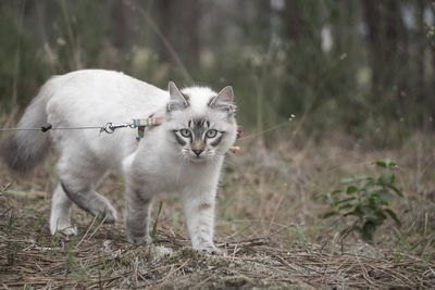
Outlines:
[[[50,78],[26,109],[18,128],[50,123],[53,129],[17,130],[1,143],[9,166],[29,172],[54,148],[59,152],[50,216],[52,235],[76,235],[70,218],[78,207],[114,223],[116,211],[95,191],[108,172],[125,179],[127,240],[150,243],[152,199],[162,192],[179,194],[194,249],[222,253],[213,243],[214,205],[223,160],[235,142],[237,124],[233,88],[219,93],[208,87],[182,90],[169,83],[162,90],[123,73],[76,71]],[[55,129],[122,124],[133,118],[164,117],[161,125],[113,134],[95,129]]]

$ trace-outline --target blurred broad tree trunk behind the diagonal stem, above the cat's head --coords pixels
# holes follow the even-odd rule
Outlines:
[[[199,0],[160,0],[158,2],[160,27],[185,65],[196,65],[199,60]],[[172,62],[171,53],[161,45],[160,58]]]

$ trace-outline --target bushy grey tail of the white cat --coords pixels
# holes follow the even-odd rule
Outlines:
[[[40,128],[47,123],[46,105],[51,94],[48,81],[38,96],[27,106],[17,128]],[[0,142],[0,157],[16,173],[28,173],[45,160],[50,151],[48,133],[41,130],[16,130],[14,135]]]

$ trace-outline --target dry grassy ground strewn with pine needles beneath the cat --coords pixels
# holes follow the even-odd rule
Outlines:
[[[435,138],[415,134],[384,150],[343,135],[322,142],[283,130],[265,144],[246,138],[227,159],[217,197],[212,256],[189,248],[181,205],[162,197],[151,245],[125,240],[125,228],[101,225],[74,209],[76,237],[48,228],[54,157],[28,177],[0,165],[0,285],[3,288],[417,289],[435,285]],[[248,136],[249,137],[249,136]],[[352,174],[374,174],[373,161],[399,164],[391,201],[401,227],[387,219],[372,243],[341,239],[345,220],[322,219],[322,193]],[[99,192],[120,215],[123,180],[110,175]],[[343,222],[343,223],[341,223]]]

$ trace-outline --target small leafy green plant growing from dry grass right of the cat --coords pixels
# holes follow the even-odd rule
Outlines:
[[[347,226],[340,231],[343,238],[357,231],[364,241],[371,242],[376,228],[388,216],[400,226],[396,213],[389,209],[394,194],[403,197],[403,193],[395,186],[394,172],[398,166],[390,160],[376,161],[373,164],[381,168],[376,178],[370,176],[344,178],[340,184],[345,189],[336,189],[325,194],[331,211],[326,212],[323,218],[334,216],[339,220],[345,220]],[[349,219],[351,219],[350,226]]]

